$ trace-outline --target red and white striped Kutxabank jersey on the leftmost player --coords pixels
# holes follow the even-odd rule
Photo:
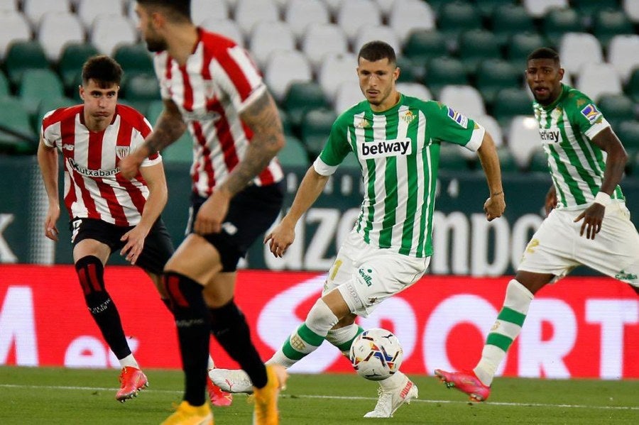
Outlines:
[[[84,125],[84,106],[50,111],[42,120],[45,145],[62,152],[65,162],[65,205],[71,219],[89,218],[116,226],[135,226],[148,198],[148,187],[138,172],[129,181],[120,174],[119,161],[138,148],[151,133],[151,124],[135,109],[118,104],[104,131]],[[157,153],[142,167],[155,165]]]

